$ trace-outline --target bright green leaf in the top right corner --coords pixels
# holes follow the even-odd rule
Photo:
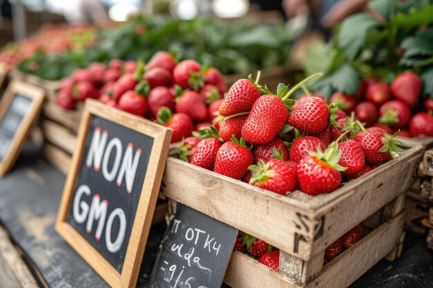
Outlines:
[[[412,8],[408,14],[398,12],[389,19],[391,26],[410,29],[420,25],[433,23],[433,3],[425,3],[422,8]]]

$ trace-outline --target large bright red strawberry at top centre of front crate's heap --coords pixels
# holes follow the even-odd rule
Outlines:
[[[274,95],[264,95],[256,100],[242,127],[242,137],[246,142],[266,144],[282,131],[287,122],[287,106]]]

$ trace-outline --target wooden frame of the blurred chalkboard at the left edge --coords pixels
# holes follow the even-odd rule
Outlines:
[[[11,81],[0,101],[0,122],[8,112],[10,104],[12,104],[16,95],[30,99],[31,104],[28,111],[23,115],[18,128],[14,129],[15,133],[12,136],[12,140],[8,145],[6,153],[4,153],[4,156],[0,159],[0,177],[8,173],[15,164],[15,161],[17,161],[17,157],[21,151],[21,146],[24,144],[24,141],[26,141],[30,128],[35,124],[35,119],[39,116],[39,113],[42,110],[45,91],[42,88],[27,84],[23,81]]]

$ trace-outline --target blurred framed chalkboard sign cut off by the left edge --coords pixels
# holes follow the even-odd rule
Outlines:
[[[17,160],[21,146],[37,121],[44,102],[44,90],[12,81],[0,102],[0,177]]]

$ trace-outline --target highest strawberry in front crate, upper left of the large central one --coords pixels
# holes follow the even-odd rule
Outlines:
[[[230,116],[250,111],[259,97],[260,91],[255,81],[252,81],[252,79],[239,79],[234,82],[227,95],[225,95],[224,102],[219,107],[219,115]]]

